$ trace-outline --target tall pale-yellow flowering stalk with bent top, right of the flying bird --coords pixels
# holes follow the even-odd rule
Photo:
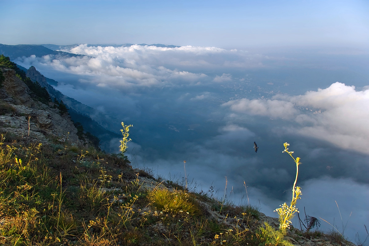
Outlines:
[[[293,151],[288,151],[287,148],[287,146],[289,145],[290,145],[289,143],[283,143],[284,150],[282,153],[287,152],[296,163],[296,179],[293,183],[292,188],[292,201],[290,205],[287,205],[286,202],[284,202],[282,205],[279,205],[280,208],[274,210],[274,212],[277,212],[279,215],[279,228],[283,232],[286,232],[287,228],[290,228],[291,219],[293,218],[294,213],[299,212],[295,204],[297,202],[297,199],[301,199],[300,195],[302,195],[301,188],[299,186],[296,187],[297,176],[299,175],[300,157],[296,157],[295,159],[292,156]]]

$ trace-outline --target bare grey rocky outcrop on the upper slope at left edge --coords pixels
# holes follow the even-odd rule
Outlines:
[[[0,131],[29,142],[49,143],[69,141],[80,145],[77,129],[68,114],[60,115],[54,103],[42,104],[31,97],[27,85],[15,71],[0,68],[3,86],[0,88]]]

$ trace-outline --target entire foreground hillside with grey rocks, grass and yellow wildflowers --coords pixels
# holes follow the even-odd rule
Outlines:
[[[81,141],[65,105],[4,56],[0,71],[1,245],[353,245],[334,231],[284,235],[257,207],[132,169]]]

